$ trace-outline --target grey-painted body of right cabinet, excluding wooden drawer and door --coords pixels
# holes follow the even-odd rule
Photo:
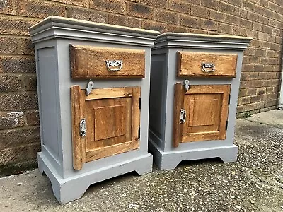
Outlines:
[[[233,144],[238,88],[240,86],[243,50],[250,42],[250,37],[221,35],[194,35],[185,33],[165,33],[158,35],[151,51],[151,95],[162,95],[161,114],[156,114],[154,103],[149,109],[149,148],[154,153],[154,160],[161,170],[174,169],[182,160],[220,157],[224,162],[236,161],[238,147]],[[218,52],[238,54],[236,78],[177,78],[176,52]],[[161,61],[164,61],[161,65]],[[163,67],[163,70],[161,70]],[[163,72],[163,73],[162,73]],[[160,78],[156,75],[161,76]],[[164,80],[162,76],[167,76]],[[190,85],[230,84],[231,103],[229,105],[228,128],[225,140],[197,141],[180,143],[173,147],[173,107],[174,85],[190,80]],[[164,85],[164,82],[166,83]],[[162,88],[158,86],[162,84]],[[158,105],[161,105],[158,101]],[[151,121],[154,120],[154,121]]]

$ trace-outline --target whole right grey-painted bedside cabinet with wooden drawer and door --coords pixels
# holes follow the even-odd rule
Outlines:
[[[243,50],[250,37],[164,33],[151,50],[149,148],[161,170],[182,160],[236,161]]]

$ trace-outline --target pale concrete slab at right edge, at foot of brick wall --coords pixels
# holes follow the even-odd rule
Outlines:
[[[251,117],[247,118],[247,120],[251,122],[258,122],[261,124],[268,124],[283,129],[282,110],[270,110],[267,112],[253,114]]]

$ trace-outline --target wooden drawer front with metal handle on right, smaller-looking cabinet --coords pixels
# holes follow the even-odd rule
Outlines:
[[[179,77],[231,77],[236,76],[237,54],[177,52]]]

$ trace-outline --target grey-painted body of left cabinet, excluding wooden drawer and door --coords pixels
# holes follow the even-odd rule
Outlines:
[[[56,16],[29,30],[35,43],[40,107],[42,151],[38,153],[38,166],[50,178],[57,200],[66,203],[78,199],[91,184],[127,172],[151,172],[153,158],[147,152],[149,80],[151,46],[159,33]],[[69,44],[144,49],[146,54],[144,79],[93,81],[94,88],[141,86],[139,149],[83,163],[81,170],[74,170],[72,164],[70,88],[86,88],[88,80],[71,79]]]

